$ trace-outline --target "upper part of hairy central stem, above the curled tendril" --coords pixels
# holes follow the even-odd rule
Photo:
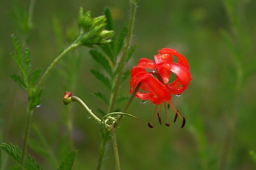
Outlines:
[[[123,51],[123,55],[120,59],[120,68],[119,68],[119,72],[118,72],[118,75],[117,75],[117,79],[115,81],[116,83],[115,83],[114,91],[111,94],[108,113],[111,113],[114,110],[114,106],[115,106],[115,102],[116,102],[116,98],[117,98],[117,93],[118,93],[118,90],[119,90],[121,78],[122,78],[124,67],[125,67],[125,60],[126,60],[126,56],[127,56],[127,51],[128,51],[130,40],[131,40],[133,21],[134,21],[134,16],[135,16],[135,11],[136,11],[136,3],[131,2],[130,5],[131,5],[131,15],[130,15],[130,18],[129,18],[129,26],[128,26],[127,36],[126,36],[126,40],[125,40],[125,45],[124,45],[124,51]]]

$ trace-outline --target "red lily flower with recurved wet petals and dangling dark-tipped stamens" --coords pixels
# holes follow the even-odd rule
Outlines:
[[[175,113],[174,122],[176,121],[177,116],[183,120],[183,128],[185,125],[185,117],[182,118],[171,103],[171,95],[179,95],[187,89],[191,81],[188,62],[186,58],[176,50],[163,48],[158,52],[159,54],[154,55],[155,63],[147,58],[141,58],[138,65],[132,68],[130,94],[132,94],[137,85],[141,83],[140,89],[144,91],[138,91],[136,97],[142,100],[150,100],[153,104],[156,104],[153,118],[151,122],[148,123],[150,128],[153,128],[151,124],[155,117],[158,105],[160,105],[160,110],[157,115],[159,123],[161,124],[160,113],[162,103],[164,103],[165,106],[166,125],[170,125],[167,118],[166,102],[168,103],[168,108],[171,106]],[[172,56],[177,57],[177,63],[173,62]],[[146,69],[150,71],[147,72]],[[173,82],[168,83],[172,73],[176,75],[176,78]],[[157,79],[153,75],[155,75]]]

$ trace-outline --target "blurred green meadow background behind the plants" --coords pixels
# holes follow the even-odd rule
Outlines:
[[[151,102],[142,104],[134,99],[127,112],[139,120],[125,117],[117,130],[122,169],[219,169],[222,161],[226,163],[225,169],[256,169],[256,162],[249,153],[256,152],[256,1],[225,2],[138,2],[131,41],[137,45],[137,49],[126,69],[136,65],[141,57],[153,60],[153,55],[159,49],[169,47],[187,58],[193,81],[182,96],[172,98],[175,107],[186,117],[183,129],[180,129],[180,120],[166,127],[159,125],[157,119],[153,123],[154,128],[148,128],[147,123],[155,106]],[[10,34],[14,33],[20,41],[22,39],[17,24],[9,15],[14,4],[14,1],[1,1],[0,6],[0,118],[4,136],[2,142],[12,142],[21,147],[27,96],[10,78],[10,75],[18,73],[10,54],[14,51]],[[28,9],[29,1],[18,1],[18,4]],[[226,8],[224,4],[227,4]],[[62,28],[64,46],[70,44],[68,37],[72,37],[72,30],[79,30],[76,17],[80,6],[84,7],[84,11],[91,10],[95,17],[102,15],[103,8],[108,6],[112,11],[116,34],[119,34],[129,17],[129,1],[35,0],[33,28],[27,43],[31,49],[33,69],[42,68],[44,71],[60,53],[54,33],[54,18]],[[227,13],[226,9],[231,9],[231,12]],[[235,18],[234,21],[232,18]],[[229,40],[234,48],[230,47],[224,35],[230,35]],[[98,107],[106,108],[91,92],[101,91],[109,95],[89,71],[91,68],[101,70],[101,67],[88,51],[89,48],[82,47],[69,54],[52,72],[43,86],[42,105],[34,110],[32,117],[32,122],[38,126],[47,142],[52,143],[52,152],[59,163],[70,151],[63,115],[67,109],[72,111],[74,148],[79,149],[73,169],[77,170],[96,168],[100,130],[77,103],[63,105],[63,94],[72,86],[72,94],[83,99],[93,111]],[[76,53],[81,57],[77,58]],[[239,58],[238,64],[233,60],[234,54]],[[67,80],[62,76],[67,71],[64,65],[73,60],[81,60],[79,66],[70,67],[77,77]],[[242,70],[239,88],[238,66]],[[129,95],[129,80],[120,88],[119,96],[122,95]],[[119,108],[124,104],[120,104]],[[172,121],[174,114],[171,111],[168,114]],[[31,129],[30,132],[31,139],[38,140],[35,130]],[[56,169],[31,148],[28,152],[41,168]],[[227,160],[223,152],[228,153]],[[14,161],[12,158],[8,161],[7,169],[10,169]],[[110,142],[102,169],[114,169]]]

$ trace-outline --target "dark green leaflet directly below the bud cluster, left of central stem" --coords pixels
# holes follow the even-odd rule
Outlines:
[[[109,73],[109,75],[112,75],[112,69],[109,65],[109,61],[106,60],[106,58],[97,50],[90,50],[89,53],[93,57],[93,59],[98,62],[102,67]]]

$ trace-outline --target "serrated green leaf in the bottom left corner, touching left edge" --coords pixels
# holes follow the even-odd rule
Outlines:
[[[2,143],[2,145],[0,145],[0,148],[8,153],[8,155],[13,157],[17,161],[17,163],[20,163],[21,151],[17,145],[14,146],[12,143],[11,145],[8,145],[7,143]]]

